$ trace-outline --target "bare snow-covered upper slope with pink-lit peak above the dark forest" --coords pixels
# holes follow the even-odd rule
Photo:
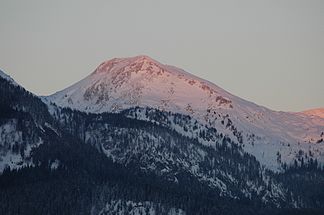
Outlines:
[[[272,111],[147,56],[106,61],[44,101],[93,113],[139,106],[186,114],[237,140],[269,169],[301,157],[324,163],[324,118]]]

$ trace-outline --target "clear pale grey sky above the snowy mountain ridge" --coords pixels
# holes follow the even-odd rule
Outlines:
[[[274,110],[324,107],[324,1],[0,0],[0,68],[37,95],[136,55]]]

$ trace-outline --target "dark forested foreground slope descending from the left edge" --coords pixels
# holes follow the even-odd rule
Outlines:
[[[191,187],[141,171],[137,163],[112,161],[96,145],[79,139],[81,134],[71,135],[76,131],[71,127],[81,117],[88,121],[87,115],[49,108],[8,75],[0,75],[0,214],[194,214],[210,208],[203,205],[224,201],[218,192],[213,199],[201,198],[201,190],[216,190],[187,173],[178,178],[190,180]],[[54,109],[63,112],[56,117],[71,114],[75,119],[57,121],[50,114]],[[120,130],[127,129],[122,127],[125,120],[140,124],[122,115],[108,115],[107,121],[111,119]],[[200,208],[186,203],[189,196],[200,201]],[[184,213],[179,206],[192,212]]]

